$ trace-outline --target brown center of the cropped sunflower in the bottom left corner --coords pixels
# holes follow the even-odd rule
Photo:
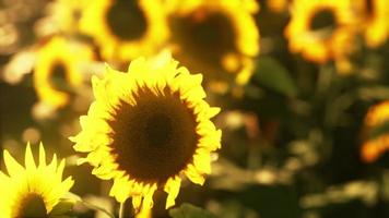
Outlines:
[[[15,218],[48,218],[46,205],[38,194],[28,194],[20,204]]]

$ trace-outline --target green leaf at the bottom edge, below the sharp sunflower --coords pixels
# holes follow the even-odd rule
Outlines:
[[[187,203],[184,203],[178,208],[170,209],[169,215],[173,218],[215,218],[214,215],[205,209]]]

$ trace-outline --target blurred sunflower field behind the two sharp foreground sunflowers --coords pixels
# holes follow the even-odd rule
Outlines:
[[[388,36],[388,0],[0,0],[0,144],[22,161],[42,141],[117,215],[68,137],[105,63],[167,50],[203,74],[223,142],[204,186],[170,210],[157,192],[152,217],[386,218]],[[74,216],[107,217],[87,205]]]

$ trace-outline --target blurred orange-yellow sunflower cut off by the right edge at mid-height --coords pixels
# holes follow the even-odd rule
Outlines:
[[[375,131],[385,131],[389,121],[389,101],[384,101],[370,107],[365,117],[365,131],[372,135]],[[389,134],[381,133],[377,136],[369,136],[362,145],[362,159],[365,162],[377,160],[385,152],[389,150]]]

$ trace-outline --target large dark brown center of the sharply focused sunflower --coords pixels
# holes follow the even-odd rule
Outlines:
[[[179,94],[165,88],[155,95],[142,87],[135,106],[121,101],[115,120],[113,155],[132,178],[166,182],[191,161],[198,143],[196,118]]]

